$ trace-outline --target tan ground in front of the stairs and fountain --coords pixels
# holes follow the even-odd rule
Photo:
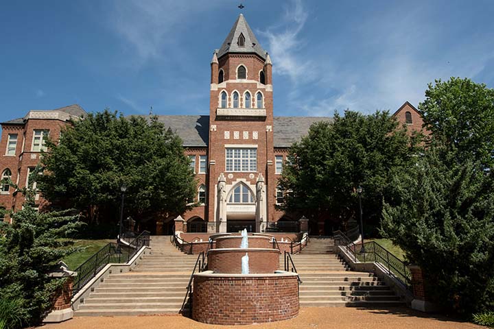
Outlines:
[[[301,308],[294,319],[253,324],[241,328],[338,328],[338,329],[442,329],[442,328],[484,328],[468,322],[445,317],[428,315],[409,308],[388,308],[369,310],[360,308]],[[180,329],[180,328],[228,328],[201,324],[181,315],[139,316],[139,317],[75,317],[62,324],[47,324],[42,329]]]

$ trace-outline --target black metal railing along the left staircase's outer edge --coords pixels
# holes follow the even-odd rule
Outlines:
[[[72,295],[77,294],[106,265],[128,263],[142,247],[149,245],[150,235],[148,231],[136,236],[128,245],[108,243],[74,270],[77,276],[73,283]]]

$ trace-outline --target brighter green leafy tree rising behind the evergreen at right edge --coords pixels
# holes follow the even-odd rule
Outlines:
[[[420,103],[425,126],[434,138],[456,150],[459,160],[471,157],[487,167],[494,164],[494,89],[471,80],[436,80]]]

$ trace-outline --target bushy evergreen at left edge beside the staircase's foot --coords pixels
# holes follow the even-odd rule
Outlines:
[[[0,222],[0,326],[21,328],[39,324],[51,309],[64,279],[48,274],[64,256],[78,248],[61,240],[81,226],[63,212],[39,213],[34,191],[23,209],[11,214],[12,225]]]

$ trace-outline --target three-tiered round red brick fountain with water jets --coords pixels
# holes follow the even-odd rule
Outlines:
[[[273,236],[243,230],[212,239],[208,270],[193,276],[193,319],[233,326],[298,315],[298,275],[279,271]]]

